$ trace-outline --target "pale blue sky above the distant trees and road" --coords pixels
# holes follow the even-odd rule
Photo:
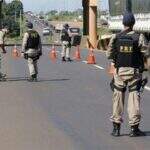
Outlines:
[[[12,0],[6,0],[11,2]],[[49,10],[75,10],[82,8],[82,0],[21,0],[25,11],[49,11]],[[98,6],[102,9],[108,8],[108,0],[98,0]]]

